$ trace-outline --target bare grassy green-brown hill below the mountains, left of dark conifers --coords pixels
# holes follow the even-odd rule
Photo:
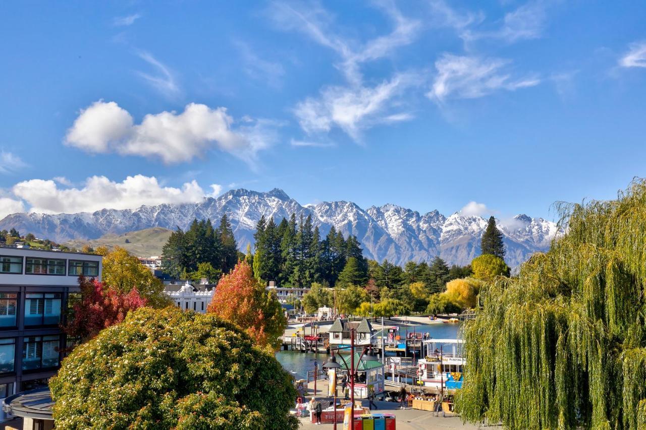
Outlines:
[[[161,248],[171,236],[172,230],[163,229],[162,227],[152,227],[152,229],[143,229],[130,231],[123,234],[105,234],[98,239],[92,240],[70,240],[65,242],[68,247],[81,249],[85,245],[96,249],[101,245],[109,248],[120,246],[127,249],[130,254],[138,257],[160,256]]]

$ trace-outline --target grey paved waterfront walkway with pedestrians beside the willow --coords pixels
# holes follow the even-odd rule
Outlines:
[[[417,409],[406,408],[403,411],[397,409],[398,403],[395,402],[375,402],[379,407],[375,413],[391,413],[397,418],[397,430],[475,430],[485,428],[472,424],[463,424],[459,416],[433,416],[432,412],[419,411]],[[364,406],[368,406],[368,400],[363,401]],[[300,418],[302,429],[331,429],[333,424],[311,424],[309,418]],[[337,424],[337,429],[341,430],[343,424]],[[499,429],[498,426],[489,426],[486,428]]]

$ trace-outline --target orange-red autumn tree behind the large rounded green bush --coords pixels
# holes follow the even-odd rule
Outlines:
[[[253,277],[246,261],[240,261],[222,277],[207,312],[239,325],[261,347],[278,349],[287,327],[275,293],[266,291],[264,284]]]

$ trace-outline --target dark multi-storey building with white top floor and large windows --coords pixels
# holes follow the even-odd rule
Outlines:
[[[101,259],[0,247],[0,399],[45,385],[56,373],[68,296],[79,291],[80,274],[101,279]]]

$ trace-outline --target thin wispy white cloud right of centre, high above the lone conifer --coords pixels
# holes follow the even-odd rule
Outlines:
[[[437,76],[433,87],[426,95],[436,101],[448,97],[476,98],[495,90],[516,90],[533,87],[540,80],[535,77],[512,80],[503,72],[509,61],[496,58],[479,58],[444,54],[435,61]]]

